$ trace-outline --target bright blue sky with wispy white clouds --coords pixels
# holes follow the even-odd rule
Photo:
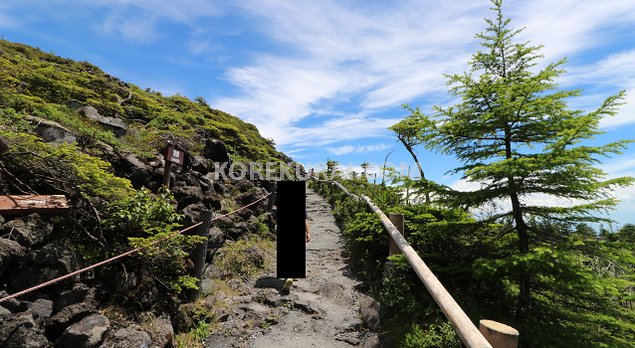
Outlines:
[[[467,70],[474,34],[491,17],[487,0],[21,0],[0,3],[0,34],[98,65],[166,95],[204,97],[254,123],[278,148],[309,166],[327,158],[411,162],[386,128],[407,112],[449,105],[443,74]],[[601,140],[635,138],[635,2],[507,1],[519,39],[542,44],[541,64],[568,57],[562,88],[583,88],[570,105],[590,110],[619,90],[626,104],[602,124]],[[457,163],[418,149],[428,178]],[[602,164],[635,175],[635,145]],[[611,214],[635,221],[634,189]],[[546,199],[546,198],[545,198]],[[561,201],[553,201],[560,204]]]

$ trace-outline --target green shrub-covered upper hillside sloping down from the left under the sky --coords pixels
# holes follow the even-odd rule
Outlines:
[[[129,127],[117,138],[75,109],[93,106],[103,116],[118,117]],[[258,129],[235,116],[211,108],[203,98],[166,97],[119,80],[87,62],[76,62],[27,45],[0,40],[1,124],[28,128],[24,116],[56,121],[90,149],[97,142],[141,157],[151,157],[166,138],[179,137],[192,153],[202,138],[225,142],[235,159],[268,161],[288,158],[276,151]]]

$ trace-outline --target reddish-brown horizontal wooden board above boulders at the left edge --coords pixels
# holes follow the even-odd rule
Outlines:
[[[64,195],[0,196],[0,214],[62,213],[70,207]]]

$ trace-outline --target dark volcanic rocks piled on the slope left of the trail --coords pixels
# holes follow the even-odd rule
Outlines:
[[[80,112],[108,124],[118,135],[125,133],[117,120],[98,115],[90,107],[83,107]],[[54,123],[35,118],[31,121],[40,125],[39,133],[46,141],[74,140],[65,128]],[[107,145],[101,150],[115,173],[130,179],[134,187],[151,190],[160,187],[163,156],[143,161]],[[201,156],[188,154],[184,166],[173,168],[171,191],[178,211],[188,216],[190,223],[196,222],[200,210],[224,214],[228,212],[226,206],[234,209],[268,194],[266,188],[271,183],[219,180],[215,175],[221,168],[219,161],[230,161],[230,156],[222,142],[210,139]],[[258,231],[261,222],[255,216],[265,214],[267,223],[273,227],[275,221],[267,206],[265,199],[240,214],[219,219],[208,231],[207,262],[213,261],[214,253],[227,238],[240,239]],[[0,298],[86,266],[81,253],[69,248],[62,238],[74,233],[64,230],[73,224],[56,221],[55,217],[35,213],[0,217]],[[179,306],[182,300],[172,299],[174,303],[158,309],[155,304],[161,297],[161,286],[147,275],[113,265],[107,271],[98,269],[4,301],[0,303],[0,347],[171,347],[174,328],[178,329],[179,310],[184,305]],[[128,313],[110,313],[107,304],[128,293],[140,294],[135,305],[141,309],[128,307]]]

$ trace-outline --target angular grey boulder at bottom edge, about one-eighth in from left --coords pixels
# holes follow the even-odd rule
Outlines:
[[[92,314],[69,326],[55,341],[57,347],[97,348],[110,328],[110,321],[101,314]]]

